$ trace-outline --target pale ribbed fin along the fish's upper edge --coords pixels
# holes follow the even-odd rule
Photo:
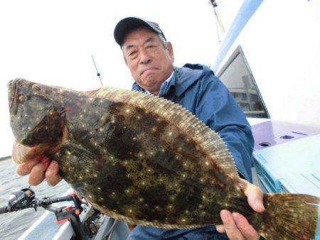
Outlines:
[[[230,178],[238,180],[238,172],[233,157],[228,151],[223,139],[208,126],[203,124],[190,111],[179,104],[175,104],[162,97],[154,97],[145,92],[129,91],[111,87],[102,87],[92,92],[87,92],[91,97],[102,97],[114,102],[124,102],[141,107],[145,111],[155,114],[174,123],[194,141],[199,143],[208,156],[225,170]]]

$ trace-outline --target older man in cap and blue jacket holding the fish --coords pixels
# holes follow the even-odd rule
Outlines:
[[[154,22],[124,18],[114,29],[114,38],[122,48],[134,84],[132,89],[164,97],[193,112],[198,119],[217,131],[227,143],[242,178],[251,181],[250,158],[253,138],[250,126],[228,89],[203,65],[174,67],[174,51],[164,33]],[[29,183],[37,185],[44,178],[57,184],[58,164],[37,153],[36,149],[14,145],[13,158],[28,160],[18,165],[18,174],[30,173]],[[262,191],[242,180],[242,187],[252,209],[263,212]],[[238,213],[223,210],[223,225],[198,229],[156,229],[137,226],[128,239],[259,239],[259,234]],[[221,233],[226,234],[221,234]]]

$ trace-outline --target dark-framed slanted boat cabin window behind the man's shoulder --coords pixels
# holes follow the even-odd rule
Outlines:
[[[245,116],[270,119],[240,45],[235,49],[235,52],[221,68],[217,76],[233,94]]]

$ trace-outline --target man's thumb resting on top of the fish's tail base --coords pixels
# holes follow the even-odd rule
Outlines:
[[[241,179],[240,181],[250,207],[252,207],[255,212],[265,211],[265,207],[263,206],[263,192],[260,187],[257,187],[244,179]]]

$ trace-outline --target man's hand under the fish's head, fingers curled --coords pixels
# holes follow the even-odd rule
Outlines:
[[[15,142],[12,151],[12,159],[18,164],[18,175],[29,176],[30,185],[38,185],[45,178],[49,185],[56,185],[62,178],[58,174],[59,166],[55,161],[51,161],[44,156],[36,147],[28,148]]]

